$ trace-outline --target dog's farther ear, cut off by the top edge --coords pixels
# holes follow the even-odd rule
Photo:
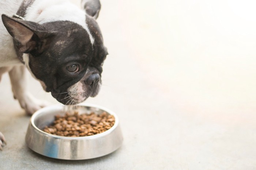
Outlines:
[[[97,19],[99,11],[101,10],[101,3],[99,0],[82,0],[82,8],[85,10],[87,15]]]

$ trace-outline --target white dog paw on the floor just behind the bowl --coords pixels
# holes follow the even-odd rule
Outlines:
[[[27,93],[22,97],[22,99],[19,99],[19,104],[20,107],[24,108],[27,114],[32,115],[35,111],[48,106],[50,103],[44,100],[36,99],[30,93]]]

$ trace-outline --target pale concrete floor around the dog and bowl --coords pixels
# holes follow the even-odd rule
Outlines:
[[[1,169],[256,169],[256,19],[250,1],[102,1],[109,56],[103,87],[86,102],[120,118],[123,146],[62,161],[25,144],[29,116],[0,83]],[[29,76],[40,99],[57,103]]]

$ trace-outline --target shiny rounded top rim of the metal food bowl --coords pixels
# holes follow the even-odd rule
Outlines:
[[[91,136],[85,136],[85,137],[63,137],[63,136],[58,136],[58,135],[53,135],[53,134],[49,134],[49,133],[46,133],[44,131],[42,131],[41,129],[39,129],[37,126],[35,126],[35,123],[34,123],[34,120],[35,118],[37,118],[37,116],[39,114],[41,114],[41,112],[44,112],[44,111],[47,111],[47,110],[53,110],[54,108],[56,107],[62,107],[64,108],[66,105],[64,104],[53,104],[53,105],[50,105],[50,106],[46,106],[44,108],[41,108],[39,110],[37,110],[30,118],[30,123],[31,125],[39,132],[39,133],[42,133],[46,136],[49,136],[49,137],[53,137],[53,138],[58,138],[58,139],[75,139],[75,140],[83,140],[83,139],[95,139],[95,138],[100,138],[100,137],[104,137],[110,133],[112,133],[113,130],[116,129],[116,127],[118,126],[118,123],[119,123],[119,120],[118,120],[118,117],[117,115],[109,110],[108,108],[106,107],[103,107],[103,106],[98,106],[97,104],[91,104],[91,103],[79,103],[79,104],[76,104],[76,106],[85,106],[85,107],[95,107],[95,108],[99,108],[103,111],[106,111],[108,112],[110,115],[113,115],[114,118],[115,118],[115,123],[114,125],[109,129],[109,130],[106,130],[105,132],[102,132],[102,133],[99,133],[99,134],[95,134],[95,135],[91,135]]]

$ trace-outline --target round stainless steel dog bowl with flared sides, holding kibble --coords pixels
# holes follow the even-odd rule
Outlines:
[[[123,136],[116,114],[93,104],[79,104],[75,110],[79,114],[91,112],[101,114],[105,111],[113,115],[115,123],[109,130],[86,137],[61,137],[42,131],[45,126],[54,121],[55,115],[64,116],[67,112],[67,107],[58,104],[44,107],[34,113],[30,119],[26,134],[26,143],[31,150],[51,158],[81,160],[110,154],[121,146]]]

